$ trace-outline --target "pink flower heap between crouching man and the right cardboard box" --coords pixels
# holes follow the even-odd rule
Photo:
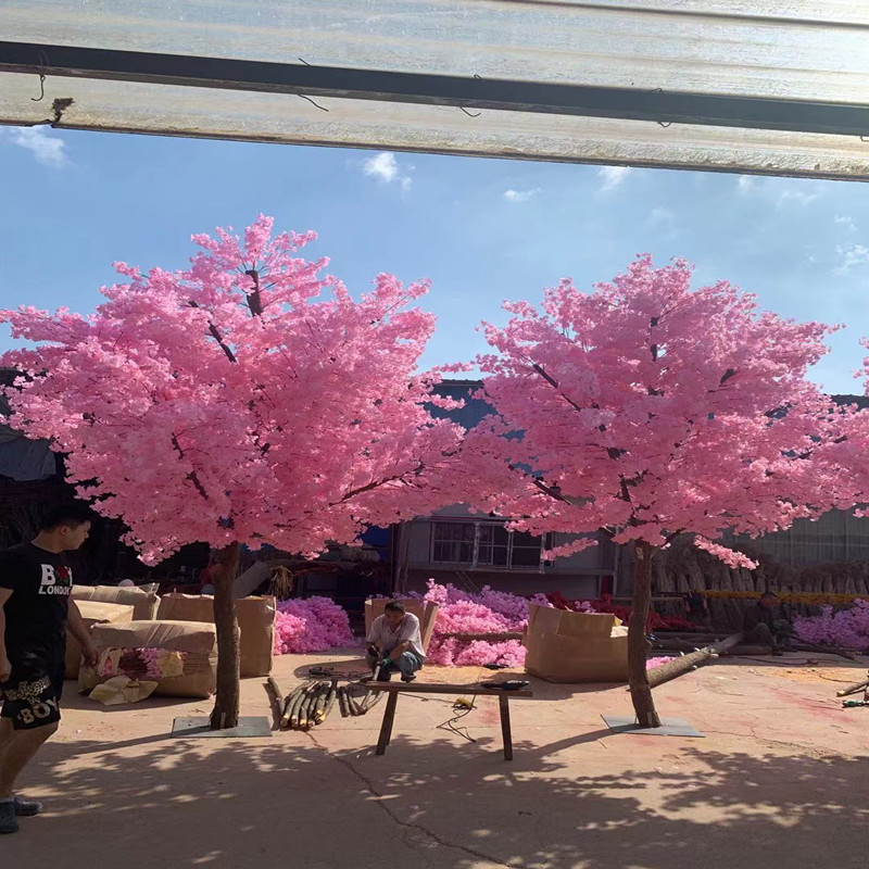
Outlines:
[[[434,632],[428,647],[428,657],[432,664],[446,667],[470,667],[482,664],[502,664],[506,667],[525,665],[525,646],[518,640],[468,641],[444,634],[520,632],[528,625],[527,597],[494,591],[488,585],[479,593],[474,593],[449,583],[439,585],[430,579],[423,600],[439,606]],[[551,606],[542,594],[531,600],[532,603]]]

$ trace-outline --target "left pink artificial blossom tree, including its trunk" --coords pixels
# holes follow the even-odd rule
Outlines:
[[[89,316],[0,313],[38,344],[3,360],[27,376],[13,425],[68,454],[71,481],[143,561],[219,549],[214,728],[238,719],[239,544],[313,554],[429,513],[452,496],[462,434],[430,416],[436,378],[417,374],[427,282],[378,275],[356,301],[299,255],[313,232],[272,238],[272,224],[194,236],[186,270],[116,264],[127,280]]]

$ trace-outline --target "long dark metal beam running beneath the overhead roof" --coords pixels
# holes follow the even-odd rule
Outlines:
[[[869,105],[587,87],[0,41],[0,72],[579,115],[659,124],[869,136]]]

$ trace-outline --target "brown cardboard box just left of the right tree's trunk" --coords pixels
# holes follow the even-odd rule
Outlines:
[[[628,681],[628,629],[612,615],[536,604],[529,610],[525,669],[531,676],[549,682]]]

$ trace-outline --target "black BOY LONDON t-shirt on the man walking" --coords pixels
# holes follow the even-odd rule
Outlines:
[[[73,590],[73,571],[64,556],[33,543],[0,552],[0,588],[12,591],[3,607],[12,666],[45,667],[46,671],[59,666],[66,651]]]

